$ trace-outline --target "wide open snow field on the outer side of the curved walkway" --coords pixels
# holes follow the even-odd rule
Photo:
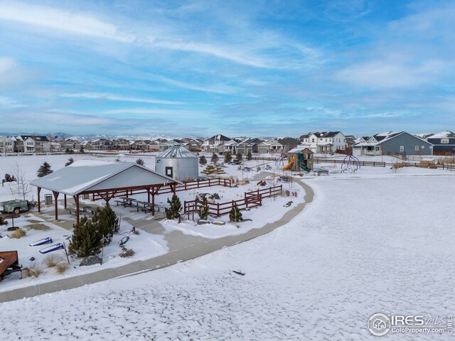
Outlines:
[[[8,322],[1,334],[6,340],[379,340],[366,328],[373,313],[455,313],[450,172],[365,168],[305,179],[316,198],[284,227],[159,271],[2,303]]]

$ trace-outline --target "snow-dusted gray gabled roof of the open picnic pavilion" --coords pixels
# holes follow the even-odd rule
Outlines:
[[[179,183],[137,163],[80,160],[38,178],[31,185],[66,195],[163,183]]]

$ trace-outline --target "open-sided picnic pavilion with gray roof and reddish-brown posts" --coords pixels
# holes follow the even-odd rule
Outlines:
[[[117,193],[129,193],[133,190],[146,190],[154,195],[156,189],[162,186],[171,188],[180,183],[177,180],[160,175],[149,168],[137,163],[109,162],[82,160],[76,161],[68,167],[38,178],[31,185],[38,188],[38,212],[41,212],[41,189],[52,191],[55,198],[55,220],[58,219],[57,200],[61,193],[74,198],[77,207],[77,222],[79,222],[79,196],[84,194],[100,195],[109,202]],[[152,207],[154,215],[154,207]]]

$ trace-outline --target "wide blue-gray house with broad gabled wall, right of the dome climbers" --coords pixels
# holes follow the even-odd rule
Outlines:
[[[375,134],[353,146],[354,155],[432,155],[433,145],[406,131]]]

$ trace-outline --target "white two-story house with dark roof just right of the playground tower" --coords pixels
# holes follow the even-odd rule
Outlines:
[[[336,153],[345,150],[346,136],[341,131],[318,131],[300,136],[301,146],[313,153]]]

